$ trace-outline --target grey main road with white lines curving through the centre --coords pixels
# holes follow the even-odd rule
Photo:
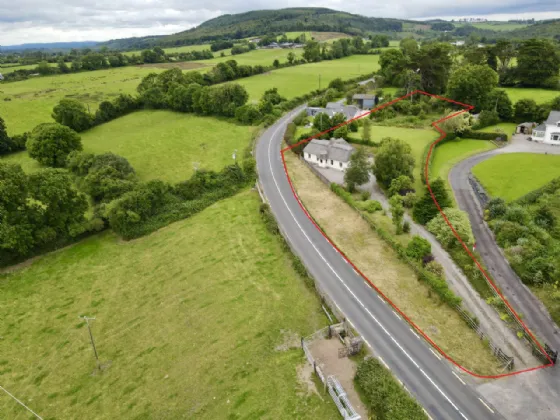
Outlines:
[[[392,308],[329,244],[300,208],[292,194],[280,157],[287,122],[301,108],[271,126],[256,150],[259,179],[272,212],[321,288],[436,419],[503,419],[488,407],[450,364],[436,357]],[[380,263],[382,263],[380,261]]]

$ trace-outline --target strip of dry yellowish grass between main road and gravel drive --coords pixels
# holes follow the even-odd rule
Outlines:
[[[496,358],[460,316],[293,153],[285,157],[309,213],[369,280],[457,363],[482,375],[500,373]],[[372,293],[376,292],[372,289]]]

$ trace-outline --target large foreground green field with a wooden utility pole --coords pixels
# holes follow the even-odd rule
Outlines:
[[[298,379],[299,337],[326,318],[259,204],[247,191],[0,274],[2,386],[45,419],[337,418]],[[96,317],[102,373],[80,315]],[[30,418],[4,393],[0,413]]]

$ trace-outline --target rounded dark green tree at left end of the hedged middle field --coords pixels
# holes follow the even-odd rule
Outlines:
[[[82,150],[82,139],[74,130],[58,124],[43,123],[33,129],[27,140],[29,156],[56,168],[66,165],[68,154]]]

